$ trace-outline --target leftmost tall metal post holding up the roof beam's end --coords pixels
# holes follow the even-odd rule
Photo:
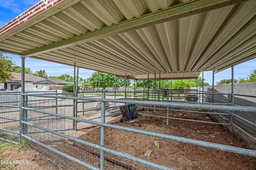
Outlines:
[[[21,57],[21,93],[25,93],[25,57]],[[22,134],[24,135],[24,124],[22,121],[24,120],[24,107],[25,105],[25,96],[20,95],[20,127],[19,127],[19,139],[22,141]]]

